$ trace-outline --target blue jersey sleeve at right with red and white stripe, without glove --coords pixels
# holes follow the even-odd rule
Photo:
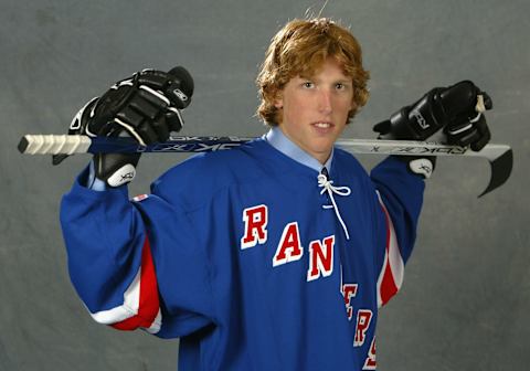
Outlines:
[[[404,266],[416,240],[424,180],[405,161],[389,157],[371,172],[375,186],[375,272],[378,305],[385,305],[402,287]]]

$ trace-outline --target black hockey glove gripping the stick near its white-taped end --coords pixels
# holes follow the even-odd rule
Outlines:
[[[193,80],[183,67],[166,73],[144,70],[116,83],[102,97],[93,98],[75,115],[68,134],[127,136],[140,145],[166,141],[179,131],[193,94]],[[65,156],[55,156],[54,165]],[[95,176],[110,187],[130,182],[140,153],[94,155]]]

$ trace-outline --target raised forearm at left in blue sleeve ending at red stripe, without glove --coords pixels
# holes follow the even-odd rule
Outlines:
[[[144,221],[125,187],[95,192],[82,186],[84,177],[61,203],[72,283],[94,320],[156,332],[158,288]]]

